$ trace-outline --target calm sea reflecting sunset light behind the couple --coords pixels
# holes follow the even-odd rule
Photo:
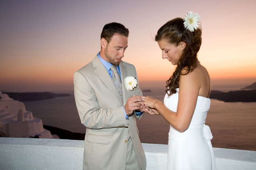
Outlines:
[[[152,85],[152,84],[151,84]],[[152,96],[163,102],[165,87],[163,84],[141,86],[144,96]],[[215,88],[223,92],[241,90],[240,87]],[[71,96],[56,97],[48,100],[23,102],[26,110],[40,118],[43,124],[85,133],[75,105],[73,90]],[[223,102],[211,99],[211,107],[206,123],[213,133],[213,147],[256,150],[256,102]],[[144,115],[137,122],[142,143],[168,144],[169,124],[161,116]],[[240,141],[241,140],[241,141]],[[234,142],[236,141],[236,142]],[[234,143],[236,146],[233,146]]]

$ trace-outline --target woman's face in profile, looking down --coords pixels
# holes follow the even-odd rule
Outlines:
[[[158,41],[158,45],[163,52],[162,58],[166,58],[173,65],[176,65],[178,63],[182,51],[185,48],[184,42],[181,42],[178,46],[176,46],[175,44],[170,44],[167,40]]]

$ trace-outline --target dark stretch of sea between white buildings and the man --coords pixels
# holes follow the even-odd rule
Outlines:
[[[85,126],[81,124],[73,95],[23,103],[26,110],[31,111],[34,117],[42,119],[45,125],[85,133]]]

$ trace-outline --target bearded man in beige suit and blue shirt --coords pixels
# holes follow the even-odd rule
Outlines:
[[[122,24],[106,24],[100,52],[74,74],[75,102],[86,126],[83,170],[146,169],[136,126],[136,118],[143,114],[144,106],[138,103],[142,92],[138,86],[126,90],[124,85],[127,76],[138,78],[135,67],[122,61],[128,34]],[[121,79],[120,88],[116,77]]]

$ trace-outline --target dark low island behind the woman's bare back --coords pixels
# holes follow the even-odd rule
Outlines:
[[[221,92],[212,90],[210,98],[223,102],[256,102],[256,90]]]

